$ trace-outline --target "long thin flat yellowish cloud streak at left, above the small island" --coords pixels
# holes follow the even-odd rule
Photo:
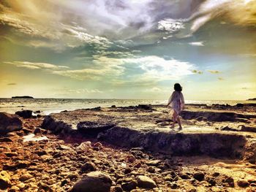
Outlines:
[[[33,63],[29,61],[12,61],[12,62],[4,62],[4,64],[12,64],[18,67],[24,67],[27,69],[69,69],[68,66],[56,66],[53,64],[46,64],[46,63]]]

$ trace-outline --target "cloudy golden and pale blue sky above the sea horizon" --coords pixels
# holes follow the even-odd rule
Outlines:
[[[0,97],[256,97],[256,0],[1,0]]]

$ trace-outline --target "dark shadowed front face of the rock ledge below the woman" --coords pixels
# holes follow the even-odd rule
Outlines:
[[[115,126],[98,139],[121,147],[143,147],[170,155],[209,155],[240,158],[246,144],[242,135],[223,133],[148,132]]]

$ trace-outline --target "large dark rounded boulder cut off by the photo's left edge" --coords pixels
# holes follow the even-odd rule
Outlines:
[[[23,123],[17,115],[7,112],[0,112],[0,134],[7,134],[10,131],[22,129]]]

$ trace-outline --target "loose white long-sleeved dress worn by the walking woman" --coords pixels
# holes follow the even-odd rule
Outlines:
[[[177,114],[184,109],[184,96],[180,91],[173,91],[173,94],[170,96],[167,105],[176,111]]]

